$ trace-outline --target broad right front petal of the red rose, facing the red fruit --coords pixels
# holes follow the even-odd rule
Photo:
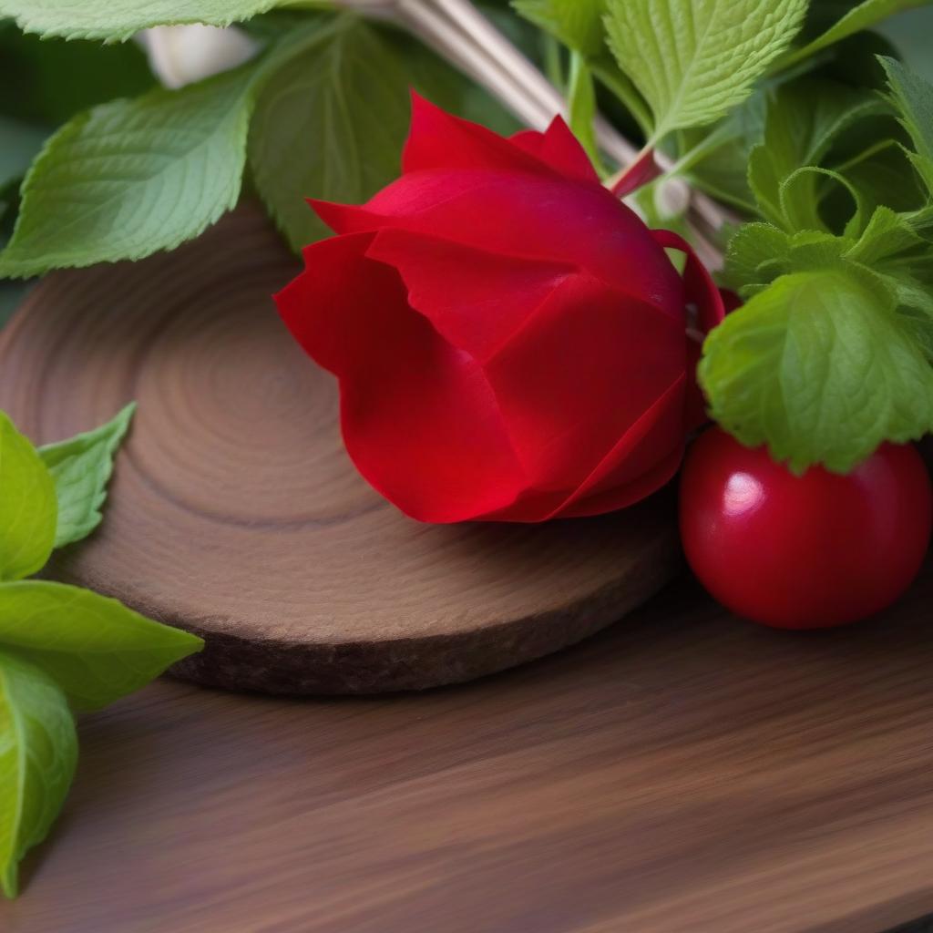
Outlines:
[[[586,480],[683,379],[684,353],[683,327],[673,318],[592,277],[564,279],[484,367],[536,490]]]

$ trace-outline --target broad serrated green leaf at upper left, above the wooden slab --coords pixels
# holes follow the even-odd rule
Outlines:
[[[251,80],[244,66],[65,125],[23,182],[0,275],[139,259],[214,223],[240,193]]]

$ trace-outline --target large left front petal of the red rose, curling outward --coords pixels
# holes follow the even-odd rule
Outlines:
[[[508,507],[527,485],[476,361],[411,311],[398,273],[366,258],[371,234],[304,251],[275,297],[305,350],[341,377],[341,426],[357,469],[425,522]]]

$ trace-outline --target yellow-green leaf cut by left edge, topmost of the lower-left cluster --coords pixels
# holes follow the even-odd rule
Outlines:
[[[41,570],[55,540],[55,484],[35,447],[0,411],[0,580]]]

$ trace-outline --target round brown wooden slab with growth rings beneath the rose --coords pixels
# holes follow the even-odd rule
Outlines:
[[[375,692],[490,674],[592,634],[670,577],[670,502],[546,525],[430,526],[357,476],[337,386],[270,295],[297,272],[258,208],[143,262],[59,272],[0,341],[0,407],[37,442],[131,399],[101,528],[51,574],[201,634],[175,673]]]

